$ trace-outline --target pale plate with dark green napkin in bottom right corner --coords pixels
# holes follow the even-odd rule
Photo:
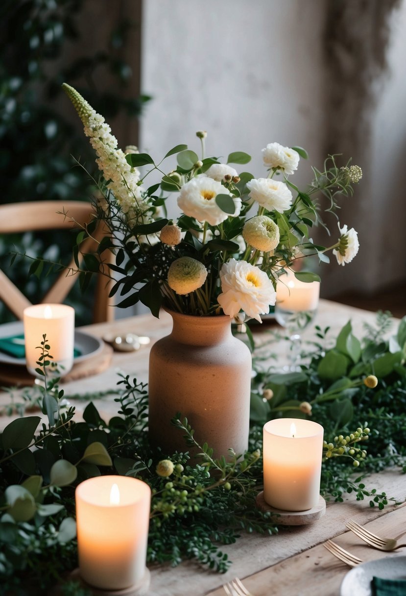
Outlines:
[[[342,581],[340,596],[372,596],[372,578],[406,579],[406,557],[388,556],[353,567]]]

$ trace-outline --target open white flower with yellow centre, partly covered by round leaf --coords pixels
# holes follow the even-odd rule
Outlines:
[[[180,189],[177,204],[183,213],[199,222],[208,222],[210,225],[218,225],[225,221],[229,213],[225,213],[218,207],[216,196],[218,194],[230,194],[221,182],[212,178],[192,178]],[[230,194],[230,196],[232,196]],[[233,197],[235,212],[233,216],[239,215],[241,211],[241,198]]]

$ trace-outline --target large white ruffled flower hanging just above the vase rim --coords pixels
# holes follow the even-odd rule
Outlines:
[[[274,305],[276,292],[271,280],[260,268],[246,261],[230,259],[220,270],[221,290],[218,304],[230,318],[242,309],[248,316],[261,321],[260,315]]]

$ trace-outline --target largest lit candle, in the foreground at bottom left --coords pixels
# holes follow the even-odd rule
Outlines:
[[[76,488],[80,575],[118,590],[145,575],[151,489],[129,476],[98,476]]]

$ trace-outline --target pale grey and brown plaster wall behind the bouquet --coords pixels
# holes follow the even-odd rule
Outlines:
[[[247,151],[257,177],[271,141],[302,145],[316,166],[327,150],[354,156],[365,175],[340,219],[361,249],[323,271],[323,294],[395,283],[406,277],[405,32],[406,0],[144,0],[140,88],[154,99],[139,145],[157,157],[181,142],[198,152],[205,129],[208,154]],[[310,178],[301,162],[293,180]]]

